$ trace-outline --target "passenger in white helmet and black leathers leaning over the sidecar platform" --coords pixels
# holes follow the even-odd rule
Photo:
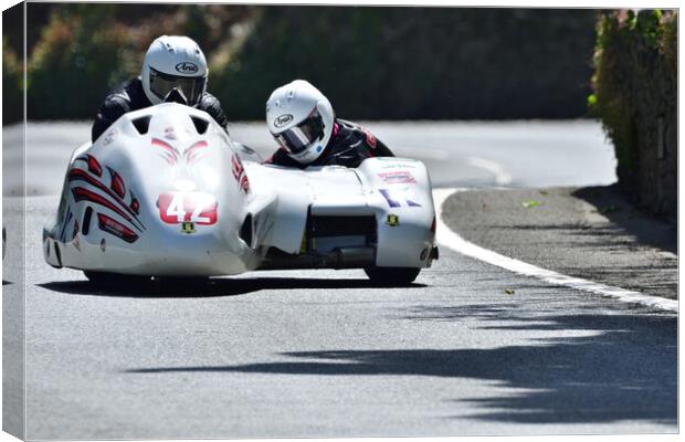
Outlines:
[[[357,167],[366,158],[392,157],[369,129],[336,118],[330,102],[309,82],[295,80],[266,102],[266,125],[281,148],[266,164]]]

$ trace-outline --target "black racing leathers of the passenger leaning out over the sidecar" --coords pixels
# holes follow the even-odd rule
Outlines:
[[[392,151],[371,134],[369,129],[356,123],[336,118],[333,135],[322,155],[312,164],[303,165],[291,158],[281,148],[265,164],[296,167],[304,169],[309,166],[346,166],[358,167],[361,161],[372,157],[394,157]]]

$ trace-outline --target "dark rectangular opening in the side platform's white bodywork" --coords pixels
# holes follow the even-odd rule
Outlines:
[[[376,218],[310,217],[307,251],[328,253],[337,248],[361,248],[377,242]]]

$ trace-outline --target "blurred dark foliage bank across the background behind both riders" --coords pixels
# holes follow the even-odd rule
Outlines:
[[[93,118],[160,34],[188,34],[231,119],[306,78],[348,118],[572,118],[591,92],[596,11],[28,3],[29,118]],[[3,60],[12,49],[6,51]],[[3,72],[4,78],[4,72]],[[4,80],[3,80],[4,81]]]

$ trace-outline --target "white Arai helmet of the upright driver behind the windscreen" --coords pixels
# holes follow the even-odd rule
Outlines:
[[[150,44],[143,61],[143,90],[152,104],[177,90],[190,106],[207,91],[207,60],[198,43],[187,36],[162,35]]]

